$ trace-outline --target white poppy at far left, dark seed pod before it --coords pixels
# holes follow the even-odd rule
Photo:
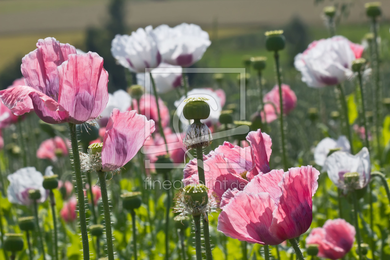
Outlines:
[[[50,170],[46,168],[47,172]],[[8,200],[11,203],[18,203],[26,206],[31,205],[32,200],[28,197],[28,191],[30,189],[38,189],[41,191],[41,198],[38,202],[44,202],[48,196],[48,192],[42,185],[42,173],[38,172],[35,167],[21,168],[8,175],[7,179],[10,182],[7,188],[7,194]]]

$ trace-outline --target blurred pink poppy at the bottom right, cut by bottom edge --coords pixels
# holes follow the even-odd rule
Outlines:
[[[343,258],[355,242],[355,227],[344,219],[328,219],[322,228],[313,228],[306,245],[318,245],[318,257],[336,260]]]

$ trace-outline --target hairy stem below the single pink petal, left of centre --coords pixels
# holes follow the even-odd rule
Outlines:
[[[111,213],[110,213],[110,203],[108,202],[106,173],[102,171],[98,171],[97,176],[99,177],[101,200],[103,202],[108,260],[114,260],[114,248],[112,244],[112,230],[111,230]]]

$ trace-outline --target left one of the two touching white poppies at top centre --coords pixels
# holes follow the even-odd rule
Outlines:
[[[161,62],[153,27],[138,28],[131,35],[117,34],[111,42],[112,56],[119,64],[135,73],[155,68]]]

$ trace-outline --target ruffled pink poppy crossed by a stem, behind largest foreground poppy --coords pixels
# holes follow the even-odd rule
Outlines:
[[[204,174],[209,194],[222,200],[222,195],[228,189],[242,190],[248,181],[256,175],[270,171],[272,141],[261,129],[252,131],[246,136],[250,146],[241,148],[229,142],[204,156]],[[184,185],[199,183],[197,160],[193,159],[184,167]]]

